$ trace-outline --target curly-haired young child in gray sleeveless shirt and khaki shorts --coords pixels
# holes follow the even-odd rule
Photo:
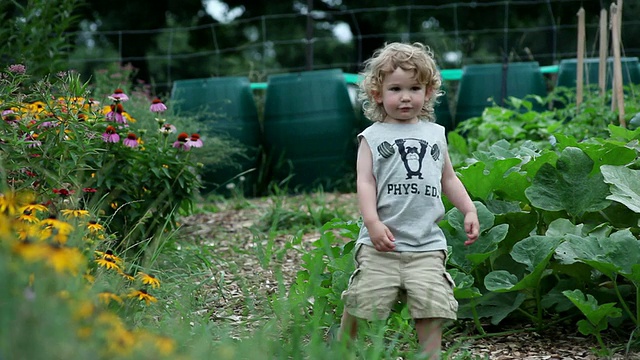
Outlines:
[[[476,208],[458,179],[444,127],[434,123],[442,81],[431,51],[391,43],[365,62],[364,113],[374,123],[358,135],[358,204],[364,226],[354,249],[356,270],[343,293],[338,338],[354,338],[357,319],[384,320],[406,301],[422,352],[440,358],[442,324],[456,319],[447,243],[438,222],[441,195],[464,214],[466,245],[478,238]]]

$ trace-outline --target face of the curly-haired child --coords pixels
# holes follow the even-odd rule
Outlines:
[[[415,123],[427,96],[426,86],[418,83],[413,71],[397,68],[384,77],[382,93],[375,94],[375,100],[387,113],[384,122]]]

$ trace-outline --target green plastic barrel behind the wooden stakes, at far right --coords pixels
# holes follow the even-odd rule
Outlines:
[[[640,84],[640,64],[637,57],[627,57],[620,59],[622,65],[622,83]],[[598,86],[598,71],[600,67],[600,59],[587,58],[584,59],[584,75],[583,82],[585,85]],[[578,61],[576,59],[565,59],[560,61],[558,65],[558,77],[556,78],[556,86],[564,86],[569,88],[576,87],[576,77],[578,74]],[[607,89],[611,89],[611,80],[613,79],[613,58],[607,59]]]

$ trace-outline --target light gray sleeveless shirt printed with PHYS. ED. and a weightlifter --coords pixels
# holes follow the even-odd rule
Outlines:
[[[395,237],[396,251],[446,250],[438,226],[444,216],[441,179],[447,141],[444,127],[376,122],[358,134],[373,157],[378,216]],[[366,226],[357,243],[372,245]]]

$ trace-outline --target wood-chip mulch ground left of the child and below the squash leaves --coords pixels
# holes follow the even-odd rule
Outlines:
[[[340,207],[341,211],[357,217],[357,205],[354,194],[323,194],[322,206]],[[289,251],[279,251],[291,241],[292,235],[278,235],[273,239],[273,253],[267,259],[260,256],[268,246],[264,240],[258,240],[256,227],[265,226],[264,218],[274,208],[288,208],[292,213],[304,213],[299,198],[291,198],[281,204],[271,198],[250,199],[242,206],[237,203],[216,204],[216,212],[201,213],[183,219],[189,237],[203,246],[209,246],[218,261],[212,267],[210,285],[203,287],[200,294],[206,298],[207,306],[201,311],[211,313],[214,321],[233,323],[241,328],[250,328],[256,320],[253,309],[266,308],[267,297],[277,291],[278,279],[272,270],[277,266],[288,287],[295,279],[300,267],[300,256],[310,249],[310,244],[319,238],[317,231],[306,233],[301,244]],[[307,208],[309,204],[305,205]],[[307,209],[308,210],[308,209]],[[278,258],[278,257],[281,258]],[[224,259],[224,260],[221,260]],[[503,331],[504,329],[496,330]],[[447,341],[448,340],[448,341]],[[552,329],[545,333],[528,331],[505,336],[492,336],[484,339],[466,341],[460,344],[459,338],[451,336],[445,340],[445,348],[456,347],[456,354],[477,356],[473,359],[540,359],[540,360],[596,360],[605,359],[594,355],[591,349],[597,347],[593,339],[577,333],[573,327]],[[620,341],[620,340],[619,340]],[[640,359],[640,354],[632,353],[626,357],[619,351],[610,359]]]

